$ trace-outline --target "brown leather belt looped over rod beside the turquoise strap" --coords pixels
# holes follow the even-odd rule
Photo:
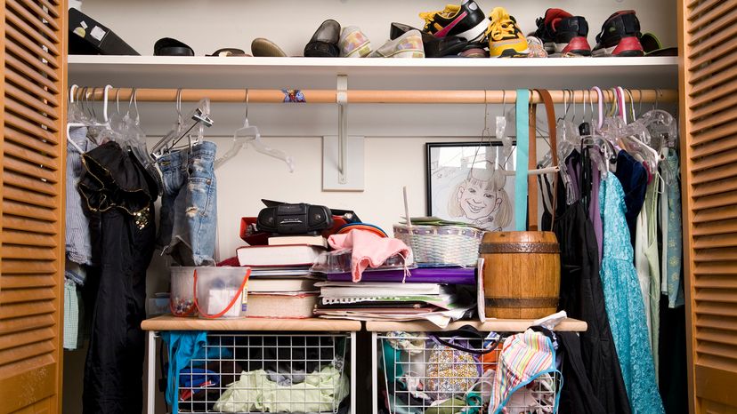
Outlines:
[[[547,129],[550,136],[550,152],[553,155],[553,165],[558,165],[558,142],[557,133],[555,131],[555,107],[553,106],[553,98],[550,96],[550,92],[545,89],[536,89],[540,98],[545,104],[545,112],[547,115]],[[534,97],[534,96],[533,96]],[[537,168],[537,104],[530,105],[530,161],[528,163],[528,169],[534,170]],[[527,178],[528,186],[528,229],[531,231],[538,230],[538,179],[535,176],[530,175]],[[551,223],[555,222],[555,211],[557,205],[557,191],[558,175],[555,174],[553,181],[553,219]]]

